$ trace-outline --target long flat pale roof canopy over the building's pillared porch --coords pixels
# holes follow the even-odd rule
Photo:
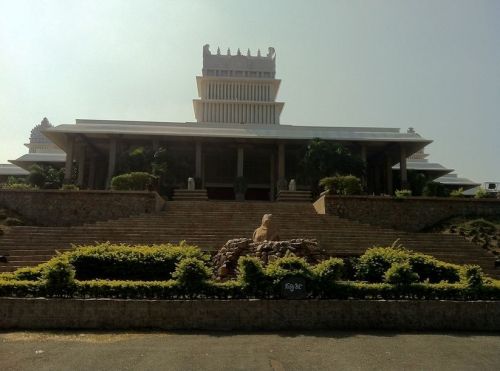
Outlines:
[[[151,122],[120,120],[76,120],[43,130],[43,134],[66,150],[68,136],[88,139],[107,139],[119,136],[124,139],[183,138],[188,140],[236,140],[245,142],[307,142],[313,138],[328,141],[359,143],[384,147],[405,143],[407,155],[422,149],[431,140],[416,133],[401,133],[397,128],[327,127],[262,124],[222,124],[191,122]],[[399,147],[398,147],[399,148]],[[394,149],[394,153],[396,154]],[[394,162],[399,158],[394,156]]]

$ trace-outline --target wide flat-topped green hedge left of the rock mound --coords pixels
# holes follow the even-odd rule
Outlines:
[[[200,249],[184,242],[153,246],[114,245],[108,242],[81,246],[67,254],[79,280],[165,281],[172,278],[181,259],[206,258]]]

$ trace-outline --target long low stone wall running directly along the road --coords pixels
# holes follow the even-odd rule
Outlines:
[[[499,331],[500,301],[0,298],[0,330]]]

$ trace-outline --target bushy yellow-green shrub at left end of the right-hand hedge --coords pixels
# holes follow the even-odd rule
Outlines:
[[[391,265],[408,260],[409,255],[407,250],[397,247],[372,247],[359,258],[356,277],[368,282],[383,282]]]

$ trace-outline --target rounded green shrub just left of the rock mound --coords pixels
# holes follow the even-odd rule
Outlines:
[[[205,287],[206,281],[210,278],[210,269],[203,260],[198,258],[184,258],[177,263],[175,272],[172,274],[179,286],[185,293],[194,297],[200,294]]]

